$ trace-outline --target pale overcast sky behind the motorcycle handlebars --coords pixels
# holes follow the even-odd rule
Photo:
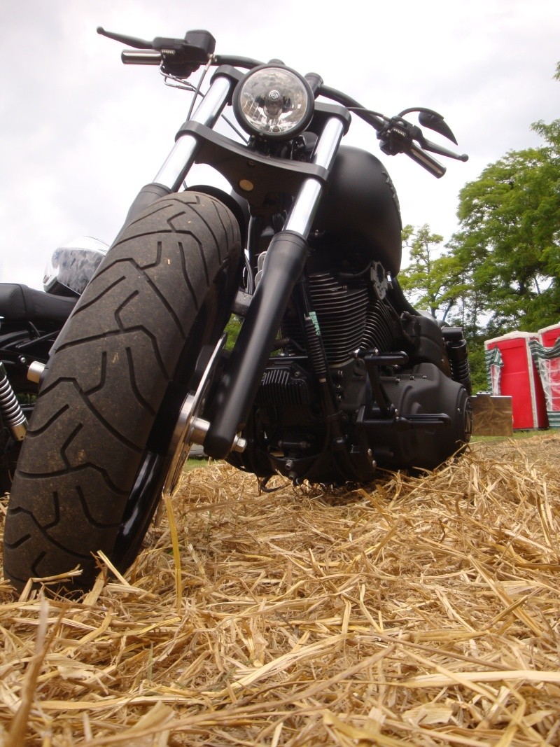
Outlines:
[[[186,93],[157,67],[122,65],[98,25],[148,40],[206,28],[217,53],[281,58],[376,111],[440,112],[470,156],[444,159],[442,179],[380,154],[355,118],[345,141],[382,158],[403,224],[446,241],[461,187],[560,116],[558,0],[0,0],[0,282],[41,288],[57,246],[111,244],[187,113]]]

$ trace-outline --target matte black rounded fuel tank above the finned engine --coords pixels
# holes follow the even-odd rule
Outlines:
[[[361,245],[393,275],[399,272],[402,223],[399,199],[385,166],[371,153],[341,146],[314,229],[332,244]],[[324,232],[324,234],[323,234]]]

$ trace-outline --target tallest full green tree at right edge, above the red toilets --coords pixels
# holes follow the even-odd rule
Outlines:
[[[494,333],[560,318],[560,120],[532,128],[543,146],[508,152],[459,193],[452,254]]]

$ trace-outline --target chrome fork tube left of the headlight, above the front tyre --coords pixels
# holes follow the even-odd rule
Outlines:
[[[208,93],[196,108],[190,121],[212,127],[222,114],[228,101],[230,88],[231,81],[229,78],[214,78]],[[186,133],[178,137],[164,165],[155,175],[155,184],[169,187],[172,192],[178,191],[184,182],[184,177],[195,161],[197,149],[198,141],[193,135]]]

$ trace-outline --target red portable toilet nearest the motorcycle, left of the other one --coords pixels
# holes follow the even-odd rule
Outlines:
[[[538,344],[538,335],[534,332],[510,332],[484,344],[488,371],[491,365],[494,366],[492,394],[511,397],[514,430],[548,426],[544,391],[531,355],[530,341]]]

